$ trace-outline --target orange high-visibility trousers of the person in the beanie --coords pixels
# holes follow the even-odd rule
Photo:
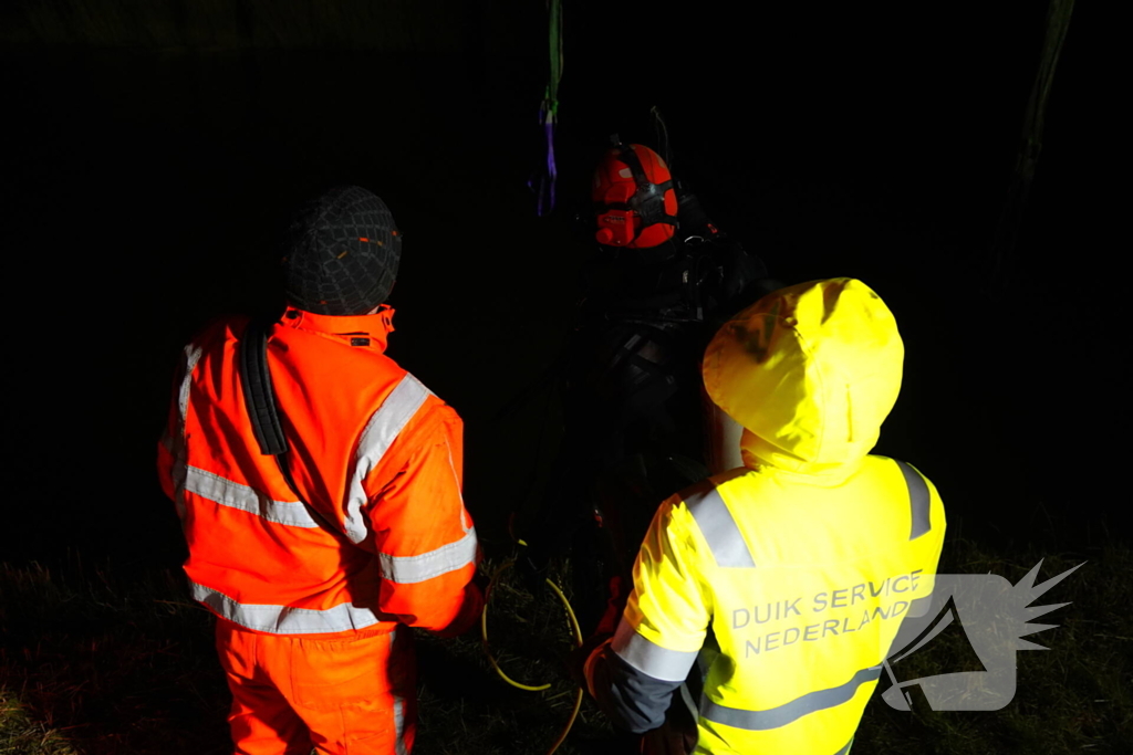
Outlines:
[[[408,627],[272,635],[216,620],[235,755],[404,755],[417,724]]]

